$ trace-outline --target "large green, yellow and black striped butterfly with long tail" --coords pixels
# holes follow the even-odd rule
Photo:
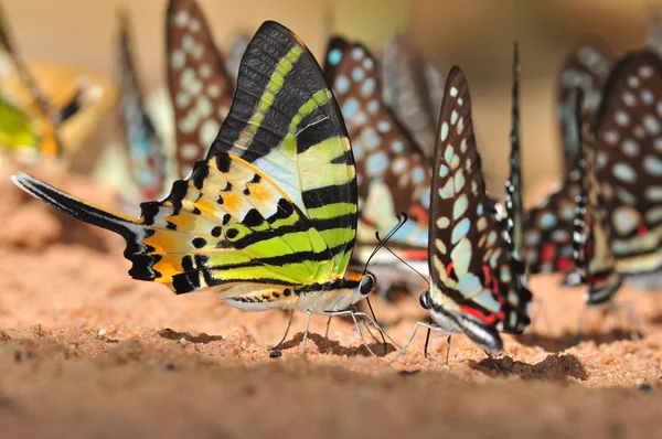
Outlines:
[[[373,275],[348,268],[357,191],[340,108],[312,54],[276,22],[265,22],[248,44],[206,159],[167,197],[142,203],[140,217],[93,206],[24,173],[13,181],[124,236],[129,275],[178,295],[212,288],[233,307],[300,310],[309,321],[313,312],[354,317],[344,310],[375,289]]]

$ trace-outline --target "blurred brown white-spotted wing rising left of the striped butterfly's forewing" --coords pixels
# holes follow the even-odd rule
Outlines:
[[[227,117],[234,84],[195,0],[169,1],[166,40],[178,172],[183,178]]]

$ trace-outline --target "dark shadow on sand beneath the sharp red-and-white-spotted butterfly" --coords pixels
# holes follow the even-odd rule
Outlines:
[[[584,365],[575,355],[548,355],[536,364],[513,361],[510,356],[470,361],[469,366],[490,376],[519,376],[523,379],[566,381],[588,378]]]

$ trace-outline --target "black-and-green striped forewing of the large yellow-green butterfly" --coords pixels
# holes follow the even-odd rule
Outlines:
[[[209,157],[231,153],[261,170],[320,231],[333,272],[356,235],[356,175],[348,132],[322,71],[288,29],[266,22],[239,67],[229,114]]]

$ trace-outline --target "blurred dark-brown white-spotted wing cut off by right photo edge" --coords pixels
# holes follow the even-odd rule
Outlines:
[[[662,61],[623,56],[597,111],[596,169],[613,232],[618,271],[662,268]]]

